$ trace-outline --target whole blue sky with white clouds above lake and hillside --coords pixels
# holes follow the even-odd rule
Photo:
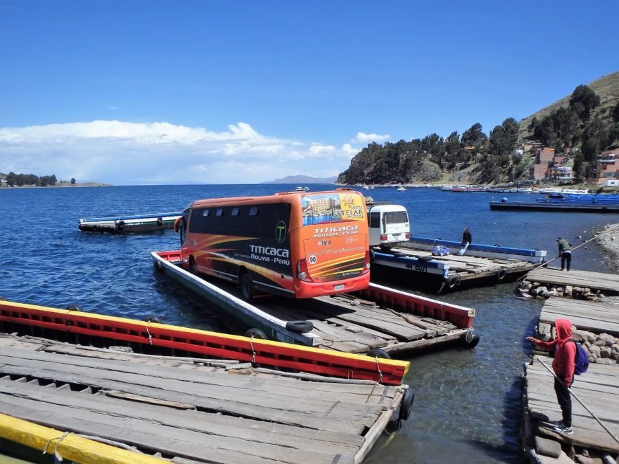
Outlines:
[[[0,0],[0,172],[334,176],[619,71],[617,0]]]

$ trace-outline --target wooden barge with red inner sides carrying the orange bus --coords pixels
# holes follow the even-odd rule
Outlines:
[[[191,274],[180,252],[153,252],[153,264],[226,313],[224,322],[258,330],[270,340],[321,346],[345,353],[401,355],[438,344],[474,347],[475,310],[370,284],[354,294],[318,298],[257,298],[252,304],[237,290]],[[225,288],[225,289],[224,289]],[[294,302],[294,304],[292,304]]]

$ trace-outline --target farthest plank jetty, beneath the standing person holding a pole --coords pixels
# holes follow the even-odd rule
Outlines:
[[[559,267],[538,267],[524,278],[525,282],[539,282],[545,285],[570,285],[572,287],[600,290],[607,295],[619,294],[619,275],[602,272],[580,271],[570,269],[561,271]]]

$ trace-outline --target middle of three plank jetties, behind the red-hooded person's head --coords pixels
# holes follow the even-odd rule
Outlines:
[[[609,333],[619,337],[619,305],[571,298],[548,298],[542,307],[539,322],[554,327],[554,321],[559,318],[569,319],[572,325],[580,330]]]

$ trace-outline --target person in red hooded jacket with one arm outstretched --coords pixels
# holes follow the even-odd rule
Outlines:
[[[552,342],[543,342],[533,337],[527,337],[527,340],[540,348],[554,349],[554,360],[552,360],[552,370],[556,374],[556,377],[554,377],[554,391],[563,413],[563,421],[556,422],[554,430],[564,434],[571,434],[572,397],[569,395],[568,388],[574,383],[576,344],[565,343],[572,338],[572,322],[569,319],[557,319],[554,321],[554,327],[556,328],[556,338]]]

